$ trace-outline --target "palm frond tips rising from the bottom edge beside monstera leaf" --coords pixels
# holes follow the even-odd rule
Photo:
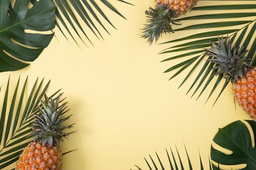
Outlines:
[[[184,147],[185,147],[185,151],[186,151],[186,155],[187,155],[184,159],[181,158],[179,151],[177,150],[177,147],[176,147],[177,156],[175,155],[175,153],[173,152],[171,147],[170,147],[169,151],[167,149],[165,149],[166,156],[167,156],[167,159],[169,162],[169,164],[166,166],[163,164],[163,161],[160,159],[158,153],[156,153],[156,159],[154,159],[151,155],[149,155],[149,159],[144,157],[145,162],[148,167],[148,170],[185,170],[184,166],[186,166],[186,165],[188,165],[189,170],[196,170],[192,166],[191,158],[187,152],[185,145],[184,145]],[[203,166],[200,153],[198,156],[197,163],[200,163],[200,170],[204,170],[204,169],[206,169],[206,167],[207,167],[207,170],[212,170],[212,163],[211,163],[210,159],[209,159],[208,165],[205,164],[205,167]],[[139,166],[137,166],[137,165],[135,165],[135,166],[138,170],[142,170],[141,168],[139,168]]]

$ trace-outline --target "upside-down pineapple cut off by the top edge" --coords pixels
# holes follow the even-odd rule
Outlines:
[[[174,33],[172,24],[180,25],[176,17],[185,15],[190,11],[198,0],[155,0],[155,8],[149,7],[145,12],[148,23],[145,24],[141,37],[147,38],[147,42],[152,45],[163,33]]]

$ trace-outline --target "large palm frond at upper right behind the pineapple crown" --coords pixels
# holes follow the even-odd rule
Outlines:
[[[251,0],[250,4],[243,3],[236,5],[225,5],[225,3],[230,2],[230,0],[219,0],[224,3],[223,5],[215,5],[217,1],[207,0],[207,6],[200,6],[200,2],[202,1],[203,0],[198,1],[197,7],[193,8],[192,12],[188,16],[179,18],[183,22],[191,22],[194,20],[191,23],[197,24],[191,24],[175,30],[176,32],[200,30],[201,33],[192,34],[162,43],[178,43],[178,45],[171,45],[170,48],[160,51],[160,54],[182,52],[179,55],[172,56],[162,61],[167,62],[184,58],[182,62],[168,68],[165,72],[177,69],[177,72],[170,78],[171,80],[182,71],[189,69],[187,76],[181,82],[180,86],[183,85],[192,75],[196,74],[187,94],[192,92],[191,97],[197,94],[197,99],[205,92],[206,88],[213,85],[206,100],[207,102],[218,86],[221,85],[221,90],[218,92],[217,99],[229,84],[229,82],[221,80],[223,75],[218,75],[217,79],[214,79],[214,75],[217,70],[213,69],[213,63],[206,61],[207,59],[211,59],[211,57],[207,57],[204,52],[204,49],[210,47],[210,41],[216,42],[218,40],[218,36],[223,36],[225,38],[229,35],[235,40],[234,45],[236,45],[236,47],[243,47],[243,51],[249,50],[247,59],[252,60],[251,65],[253,67],[256,66],[256,12],[252,12],[252,9],[256,9],[256,0]],[[241,2],[245,0],[239,1]],[[235,12],[230,12],[230,10],[235,10]],[[193,16],[193,11],[199,12],[200,15]],[[207,11],[207,14],[203,14],[204,11]],[[223,21],[223,19],[225,19],[225,21]],[[211,28],[211,31],[207,31],[208,28]],[[197,69],[199,70],[196,71]],[[217,99],[214,104],[217,102]]]

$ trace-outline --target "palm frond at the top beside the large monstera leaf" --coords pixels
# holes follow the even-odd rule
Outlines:
[[[36,1],[36,0],[32,0]],[[99,3],[104,5],[104,8],[110,9],[118,16],[126,19],[108,0],[52,0],[56,7],[56,18],[57,23],[56,26],[59,28],[61,33],[67,38],[67,34],[69,34],[75,42],[77,39],[74,37],[74,34],[78,35],[79,39],[81,39],[85,44],[86,42],[82,38],[86,37],[89,43],[92,43],[91,38],[85,29],[89,29],[98,39],[103,39],[101,35],[101,31],[99,27],[101,27],[105,32],[110,34],[104,24],[102,23],[102,19],[105,20],[108,24],[110,24],[113,28],[116,29],[114,24],[110,21],[107,15],[104,13],[103,9],[100,8]],[[126,3],[129,5],[133,5],[124,0],[114,0],[122,3]],[[76,11],[76,12],[74,12]],[[86,27],[83,27],[82,24],[85,24]],[[69,28],[69,26],[71,28]],[[97,26],[99,25],[99,27]],[[66,32],[63,31],[64,28]],[[81,34],[79,33],[81,31]],[[72,33],[72,31],[74,33]]]

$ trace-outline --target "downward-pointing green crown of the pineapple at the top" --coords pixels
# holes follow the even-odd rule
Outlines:
[[[155,8],[149,7],[148,11],[145,11],[147,16],[147,24],[144,24],[141,37],[147,39],[150,45],[153,41],[158,41],[159,37],[163,33],[174,33],[171,24],[180,25],[180,20],[175,20],[178,17],[174,10],[170,9],[170,6],[157,4]]]

